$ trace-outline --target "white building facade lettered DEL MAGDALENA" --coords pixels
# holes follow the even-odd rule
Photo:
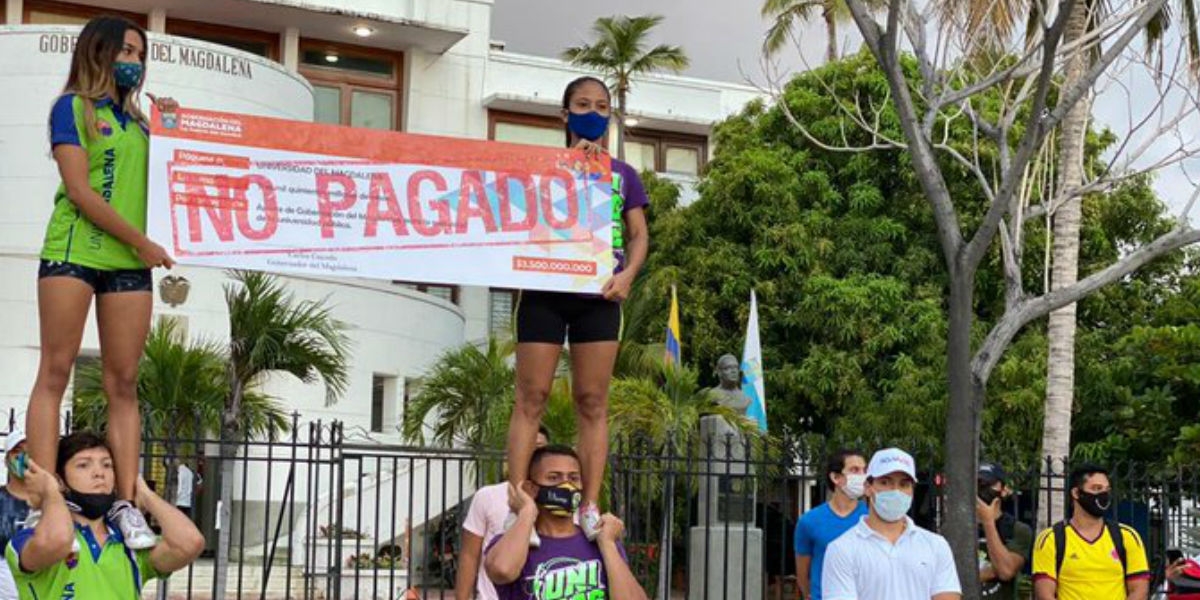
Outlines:
[[[492,0],[5,0],[0,7],[0,89],[7,94],[0,110],[0,330],[6,332],[0,409],[18,413],[37,370],[37,254],[59,182],[47,120],[74,37],[90,17],[118,13],[144,25],[150,32],[144,89],[211,110],[560,146],[563,88],[583,74],[559,60],[493,44]],[[757,97],[737,84],[673,76],[638,80],[626,121],[628,160],[682,182],[686,199],[712,151],[713,125]],[[186,266],[175,275],[190,281],[190,298],[168,306],[156,294],[156,318],[176,319],[193,338],[226,340],[226,275]],[[299,412],[301,422],[341,420],[347,431],[382,443],[400,442],[406,398],[438,355],[506,331],[515,298],[509,289],[421,282],[281,278],[298,298],[328,299],[334,316],[349,325],[349,386],[332,406],[320,385],[290,378],[272,378],[264,391]],[[90,323],[82,354],[98,352]],[[426,476],[401,470],[379,467],[372,485]],[[276,502],[278,492],[268,493],[262,481],[278,476],[247,478],[242,492],[250,502],[241,510]],[[461,491],[456,478],[439,487]],[[304,490],[308,482],[296,485]],[[422,506],[408,506],[407,498],[402,490],[389,492],[383,505],[428,515],[428,506],[458,499],[426,502],[418,494],[414,503]],[[324,511],[324,503],[328,496],[313,504]],[[378,520],[371,514],[347,521],[359,517]],[[392,530],[404,527],[385,521]]]

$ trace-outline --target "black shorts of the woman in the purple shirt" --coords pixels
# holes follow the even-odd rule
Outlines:
[[[517,343],[620,341],[620,304],[601,296],[560,292],[521,292]]]

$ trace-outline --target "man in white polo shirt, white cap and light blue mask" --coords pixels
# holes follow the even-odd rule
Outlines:
[[[866,467],[870,512],[826,550],[824,600],[959,600],[950,545],[908,518],[917,463],[880,450]]]

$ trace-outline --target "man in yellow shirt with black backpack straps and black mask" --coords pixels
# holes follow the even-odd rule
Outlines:
[[[1150,566],[1133,528],[1105,521],[1109,473],[1085,464],[1070,473],[1072,517],[1033,545],[1036,600],[1146,600]],[[1116,536],[1120,536],[1117,539]]]

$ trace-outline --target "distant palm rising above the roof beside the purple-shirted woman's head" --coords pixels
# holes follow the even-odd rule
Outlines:
[[[625,116],[634,78],[658,71],[679,72],[688,67],[688,55],[678,46],[659,44],[647,49],[647,36],[662,23],[660,14],[601,17],[592,25],[596,40],[563,52],[572,65],[593,68],[617,91],[617,157],[625,160]]]

